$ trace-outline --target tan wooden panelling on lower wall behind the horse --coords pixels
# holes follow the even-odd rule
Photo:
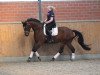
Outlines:
[[[91,51],[84,51],[76,40],[73,46],[76,54],[100,54],[100,22],[66,22],[58,23],[58,26],[66,26],[76,29],[84,35],[85,43],[91,44]],[[34,43],[34,32],[29,37],[24,36],[22,24],[0,24],[0,56],[27,56],[30,54]],[[59,49],[59,44],[45,44],[38,52],[42,56],[54,55]],[[65,47],[64,54],[70,50]]]

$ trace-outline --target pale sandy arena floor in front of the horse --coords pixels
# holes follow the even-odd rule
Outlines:
[[[73,62],[0,62],[0,75],[100,75],[100,59]]]

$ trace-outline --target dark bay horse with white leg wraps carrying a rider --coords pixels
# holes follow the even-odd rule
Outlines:
[[[28,18],[26,21],[22,22],[25,36],[29,36],[30,29],[32,28],[34,31],[34,46],[28,57],[27,62],[31,62],[33,54],[38,57],[38,60],[41,61],[40,55],[37,50],[45,43],[47,43],[47,36],[43,33],[43,23],[41,23],[38,19]],[[79,45],[86,51],[90,51],[91,48],[89,45],[84,43],[84,38],[81,32],[77,30],[71,30],[68,27],[58,27],[58,35],[52,36],[55,43],[61,43],[60,49],[58,53],[53,56],[52,61],[58,58],[58,56],[63,53],[63,49],[65,45],[71,50],[71,60],[75,59],[75,48],[72,45],[73,39],[77,37]]]

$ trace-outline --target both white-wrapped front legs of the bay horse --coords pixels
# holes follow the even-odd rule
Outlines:
[[[35,55],[38,57],[39,61],[41,61],[41,58],[40,58],[40,55],[39,53],[37,52],[37,50],[40,48],[41,44],[40,43],[35,43],[33,48],[32,48],[32,51],[30,53],[30,56],[27,60],[27,62],[30,62],[32,57],[33,57],[33,54],[35,53]]]

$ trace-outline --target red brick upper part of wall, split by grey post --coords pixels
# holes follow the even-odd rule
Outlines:
[[[100,20],[100,1],[55,1],[42,2],[43,19],[47,6],[56,7],[56,20]],[[0,2],[0,22],[16,22],[38,18],[38,2]]]

